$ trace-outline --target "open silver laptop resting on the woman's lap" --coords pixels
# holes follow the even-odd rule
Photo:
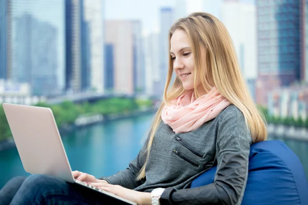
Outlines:
[[[50,108],[8,103],[4,103],[3,108],[26,172],[59,177],[127,204],[137,205],[125,198],[74,179]]]

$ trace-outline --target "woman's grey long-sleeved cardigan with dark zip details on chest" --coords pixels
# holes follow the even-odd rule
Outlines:
[[[146,158],[146,145],[127,169],[102,177],[110,184],[141,192],[166,188],[163,204],[240,204],[252,144],[243,113],[234,105],[198,129],[175,134],[161,121],[153,139],[143,180],[136,176]],[[188,189],[192,180],[218,165],[214,183]]]

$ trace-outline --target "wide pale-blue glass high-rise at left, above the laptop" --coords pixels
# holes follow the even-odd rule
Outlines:
[[[61,0],[11,1],[12,30],[9,38],[12,67],[9,79],[15,83],[29,83],[33,95],[63,92],[63,19],[64,4]]]

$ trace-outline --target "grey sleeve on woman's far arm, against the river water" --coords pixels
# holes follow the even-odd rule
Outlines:
[[[99,179],[106,180],[111,185],[120,185],[127,189],[134,189],[144,183],[143,180],[137,181],[136,176],[141,170],[142,166],[145,163],[147,151],[147,140],[144,142],[141,150],[139,151],[137,157],[129,162],[128,167],[125,170],[119,171],[114,175],[108,177],[100,177]]]

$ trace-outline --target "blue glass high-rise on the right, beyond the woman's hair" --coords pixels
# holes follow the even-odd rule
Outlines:
[[[301,79],[301,1],[257,0],[257,103],[267,92]]]

